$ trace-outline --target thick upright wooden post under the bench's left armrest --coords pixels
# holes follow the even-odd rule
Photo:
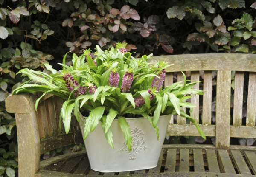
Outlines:
[[[20,176],[35,176],[40,167],[40,139],[36,114],[15,114],[18,138]]]

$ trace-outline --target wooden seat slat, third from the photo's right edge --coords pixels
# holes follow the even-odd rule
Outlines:
[[[236,174],[234,166],[230,160],[230,156],[227,150],[218,150],[218,162],[220,165],[221,173],[233,173]]]

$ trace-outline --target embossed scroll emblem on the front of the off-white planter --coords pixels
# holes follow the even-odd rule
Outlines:
[[[129,152],[128,147],[126,146],[126,141],[124,142],[123,148],[120,150],[121,152],[126,151],[130,154],[130,160],[136,159],[137,152],[140,150],[145,150],[147,147],[144,145],[145,140],[143,138],[143,131],[138,129],[137,126],[133,130],[131,130],[132,142],[131,142],[131,152]]]

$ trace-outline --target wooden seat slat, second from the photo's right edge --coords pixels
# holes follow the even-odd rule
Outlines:
[[[251,172],[250,172],[246,162],[244,161],[244,158],[241,155],[241,152],[239,150],[231,150],[230,154],[233,158],[233,161],[236,164],[236,168],[237,168],[239,174],[251,175]]]

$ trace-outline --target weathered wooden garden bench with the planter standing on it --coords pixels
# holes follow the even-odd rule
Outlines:
[[[76,120],[70,133],[58,128],[63,100],[47,95],[35,111],[38,94],[21,93],[6,99],[6,110],[15,113],[18,134],[20,176],[251,176],[256,174],[256,147],[230,145],[230,137],[256,138],[256,55],[189,54],[153,57],[174,64],[166,70],[165,86],[183,80],[181,72],[191,71],[191,80],[199,81],[204,71],[204,96],[193,96],[197,107],[191,116],[200,123],[214,145],[163,145],[158,166],[142,171],[103,174],[90,169],[86,151],[52,157],[40,162],[40,155],[63,146],[83,142]],[[212,72],[217,71],[216,122],[212,123]],[[236,71],[233,113],[230,111],[231,71]],[[177,73],[173,75],[173,72]],[[250,72],[246,123],[242,125],[244,72]],[[175,78],[175,79],[174,79]],[[194,88],[199,89],[199,84]],[[202,114],[199,102],[202,101]],[[186,110],[185,110],[186,111]],[[188,112],[188,111],[187,111]],[[233,121],[230,121],[231,116]],[[171,118],[166,135],[199,136],[195,125]]]

